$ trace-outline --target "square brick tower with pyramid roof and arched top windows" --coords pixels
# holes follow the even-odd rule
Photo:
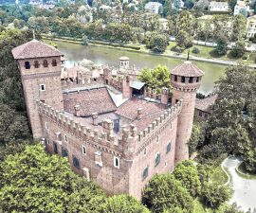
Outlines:
[[[33,40],[12,49],[18,62],[27,105],[27,115],[34,138],[40,138],[42,126],[36,99],[64,111],[61,85],[61,57],[63,54],[48,44]]]

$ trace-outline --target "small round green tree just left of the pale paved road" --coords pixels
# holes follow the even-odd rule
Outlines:
[[[207,183],[202,188],[202,200],[212,208],[217,208],[229,201],[230,196],[231,193],[228,186]]]

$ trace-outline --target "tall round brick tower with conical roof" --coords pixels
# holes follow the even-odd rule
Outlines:
[[[196,91],[200,87],[203,75],[204,72],[190,61],[174,67],[171,72],[172,105],[182,99],[182,109],[177,120],[175,164],[189,159],[188,142],[192,135]]]

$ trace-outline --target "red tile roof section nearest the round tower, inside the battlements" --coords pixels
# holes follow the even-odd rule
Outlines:
[[[141,108],[141,119],[137,119],[137,109]],[[130,119],[131,123],[137,125],[137,131],[143,131],[156,117],[162,115],[167,109],[165,104],[148,102],[144,99],[130,98],[116,111],[116,114]]]

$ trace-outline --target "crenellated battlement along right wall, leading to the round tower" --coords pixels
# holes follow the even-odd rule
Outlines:
[[[147,128],[142,132],[138,133],[138,142],[137,151],[141,151],[145,147],[144,142],[149,142],[149,138],[154,136],[159,129],[166,127],[167,125],[172,125],[172,120],[179,115],[182,108],[182,99],[178,101],[174,106],[165,111],[162,115],[155,118]]]

